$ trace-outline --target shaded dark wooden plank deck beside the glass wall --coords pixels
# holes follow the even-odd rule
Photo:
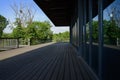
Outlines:
[[[69,43],[48,45],[0,61],[0,80],[98,80]]]

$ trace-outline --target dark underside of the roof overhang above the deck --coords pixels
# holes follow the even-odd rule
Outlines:
[[[55,26],[70,26],[77,0],[34,0]],[[103,0],[106,8],[114,0]],[[87,0],[88,2],[88,0]],[[97,0],[93,0],[93,17],[98,13]],[[88,9],[86,9],[88,10]]]

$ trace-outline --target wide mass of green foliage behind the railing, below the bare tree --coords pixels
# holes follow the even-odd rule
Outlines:
[[[22,27],[21,24],[13,30],[14,38],[23,38],[25,40],[30,39],[31,44],[38,44],[52,40],[51,25],[49,22],[32,22],[27,27]]]

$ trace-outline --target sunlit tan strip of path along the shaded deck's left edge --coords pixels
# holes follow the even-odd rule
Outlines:
[[[39,44],[39,45],[34,45],[34,46],[25,46],[22,48],[17,48],[17,49],[12,49],[12,50],[8,50],[8,51],[3,51],[0,52],[0,60],[4,60],[6,58],[10,58],[19,54],[24,54],[25,52],[40,48],[40,47],[44,47],[47,45],[53,44],[53,42],[51,43],[45,43],[45,44]]]

